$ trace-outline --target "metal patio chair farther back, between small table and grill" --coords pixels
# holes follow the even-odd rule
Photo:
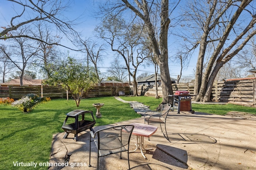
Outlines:
[[[164,129],[166,132],[167,139],[169,139],[169,138],[168,138],[167,131],[166,131],[166,118],[170,111],[170,108],[171,108],[170,104],[164,104],[164,105],[162,105],[160,112],[159,111],[146,111],[144,113],[144,123],[145,124],[146,124],[146,122],[148,123],[148,125],[149,125],[149,123],[159,123],[160,127],[161,127],[161,131],[163,132],[161,124],[164,123]],[[148,140],[149,140],[149,138],[148,138]]]

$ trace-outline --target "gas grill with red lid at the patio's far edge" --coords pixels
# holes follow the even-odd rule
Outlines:
[[[174,95],[168,95],[170,97],[173,97],[173,107],[178,109],[178,114],[180,111],[190,111],[192,114],[195,113],[194,110],[192,110],[192,104],[191,104],[191,96],[188,91],[179,91],[177,90]]]

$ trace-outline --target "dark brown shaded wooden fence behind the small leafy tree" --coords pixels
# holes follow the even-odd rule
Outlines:
[[[117,96],[119,91],[123,91],[126,95],[130,94],[129,87],[122,86],[94,86],[88,91],[88,97]],[[38,96],[50,98],[66,98],[66,90],[60,86],[10,86],[8,89],[0,89],[0,98],[10,97],[15,100],[34,93]],[[71,93],[68,93],[71,98]]]

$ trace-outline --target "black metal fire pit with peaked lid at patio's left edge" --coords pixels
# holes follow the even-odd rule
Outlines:
[[[90,114],[92,116],[92,120],[84,120],[84,114]],[[75,135],[74,140],[77,141],[78,133],[87,129],[93,131],[92,127],[95,125],[96,121],[93,117],[92,111],[74,110],[70,111],[66,115],[67,117],[62,125],[62,129],[66,132],[63,138],[67,138],[69,133],[73,133]],[[74,119],[74,121],[72,121],[73,123],[67,124],[67,121],[70,122],[70,118]]]

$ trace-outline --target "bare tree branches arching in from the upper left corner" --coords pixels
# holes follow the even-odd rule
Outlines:
[[[46,22],[50,23],[52,26],[55,26],[56,29],[70,40],[76,37],[77,33],[72,28],[74,24],[73,21],[67,20],[66,17],[62,17],[60,15],[63,11],[67,10],[70,6],[70,2],[63,3],[60,0],[8,0],[10,2],[10,6],[15,5],[18,6],[16,8],[23,9],[20,14],[17,14],[16,9],[13,8],[9,14],[17,14],[10,19],[10,23],[8,25],[1,25],[3,29],[0,31],[0,39],[10,39],[10,38],[29,38],[37,41],[41,41],[46,43],[47,45],[60,45],[62,47],[66,47],[64,45],[59,44],[58,42],[46,42],[44,39],[40,39],[38,37],[34,37],[33,34],[29,34],[28,32],[22,32],[20,29],[29,29],[31,26],[33,27],[33,23],[36,22]],[[29,14],[29,15],[28,15]],[[29,16],[32,16],[29,18]],[[15,31],[18,31],[22,34],[15,34]],[[25,34],[24,34],[25,33]],[[70,49],[69,47],[66,47]],[[74,50],[74,49],[72,49]]]

